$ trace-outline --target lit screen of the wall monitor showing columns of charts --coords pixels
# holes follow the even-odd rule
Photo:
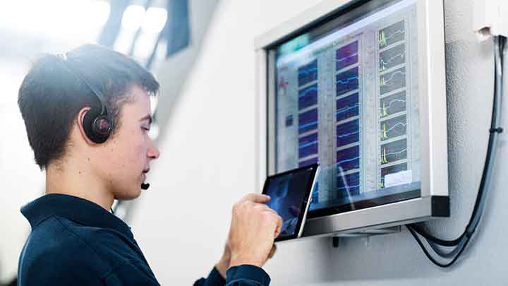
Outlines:
[[[416,0],[369,1],[272,47],[269,160],[319,162],[309,218],[421,196],[417,16]]]

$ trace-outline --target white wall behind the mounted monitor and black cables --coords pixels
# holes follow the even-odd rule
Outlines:
[[[152,189],[132,216],[135,237],[163,285],[191,285],[206,275],[222,252],[232,203],[259,191],[253,39],[317,2],[219,2],[200,58],[164,130],[162,155],[150,174]],[[472,2],[445,1],[452,218],[431,224],[433,233],[444,238],[456,237],[471,214],[490,124],[492,46],[476,42],[471,32]],[[503,121],[506,126],[506,117]],[[404,230],[341,239],[339,249],[330,239],[280,244],[266,267],[272,285],[502,285],[508,265],[508,179],[503,175],[508,150],[505,135],[501,138],[483,224],[454,268],[430,264]]]

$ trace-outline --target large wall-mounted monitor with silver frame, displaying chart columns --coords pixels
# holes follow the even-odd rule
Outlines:
[[[449,216],[443,3],[323,1],[257,40],[259,186],[318,162],[303,236]]]

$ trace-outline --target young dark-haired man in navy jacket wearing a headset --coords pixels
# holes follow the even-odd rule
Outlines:
[[[95,45],[44,56],[25,76],[18,105],[47,194],[21,209],[32,232],[18,285],[159,285],[131,228],[109,213],[115,198],[147,188],[158,89],[135,61]],[[195,285],[270,283],[261,267],[282,219],[269,200],[250,194],[234,205],[224,254]]]

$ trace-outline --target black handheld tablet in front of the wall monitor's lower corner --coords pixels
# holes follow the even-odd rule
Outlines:
[[[262,193],[272,198],[267,205],[283,220],[275,242],[301,237],[318,170],[313,164],[267,177]]]

